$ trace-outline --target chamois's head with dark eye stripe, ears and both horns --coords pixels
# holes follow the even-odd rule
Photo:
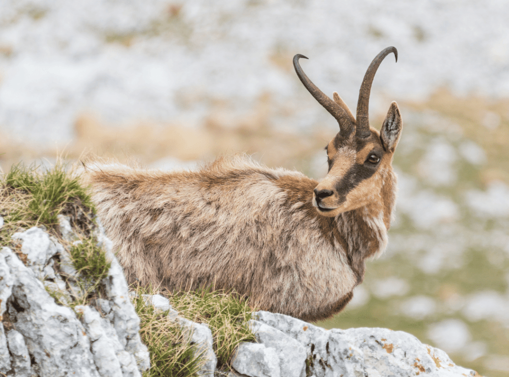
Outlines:
[[[304,55],[297,54],[293,65],[306,89],[340,124],[340,132],[327,147],[327,176],[314,189],[313,206],[323,216],[342,212],[383,200],[385,177],[392,169],[394,150],[400,138],[402,121],[396,102],[390,104],[380,132],[370,127],[368,107],[371,84],[385,56],[393,52],[398,61],[398,50],[387,47],[380,52],[364,75],[357,102],[357,119],[334,92],[332,101],[307,78],[299,64]]]

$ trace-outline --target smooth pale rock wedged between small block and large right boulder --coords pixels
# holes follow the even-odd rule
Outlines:
[[[249,326],[256,333],[259,343],[275,351],[281,377],[305,377],[307,354],[301,343],[258,321],[251,320]]]

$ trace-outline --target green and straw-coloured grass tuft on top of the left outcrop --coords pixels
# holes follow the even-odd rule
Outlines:
[[[59,214],[77,212],[95,212],[92,199],[62,164],[45,171],[17,164],[0,180],[0,215],[5,221],[0,241],[8,241],[18,227],[45,225],[53,229]]]

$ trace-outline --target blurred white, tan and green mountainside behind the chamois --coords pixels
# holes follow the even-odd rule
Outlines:
[[[0,0],[0,166],[112,156],[173,169],[247,152],[321,179],[337,123],[292,67],[371,123],[398,101],[397,217],[326,328],[403,330],[509,373],[509,5],[504,0]],[[355,110],[354,110],[355,111]]]

